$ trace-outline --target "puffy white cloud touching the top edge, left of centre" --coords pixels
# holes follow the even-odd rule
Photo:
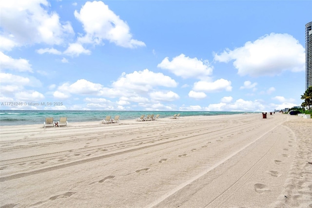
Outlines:
[[[106,39],[127,48],[145,46],[144,42],[132,38],[128,24],[102,1],[87,1],[74,15],[86,32],[85,36],[78,40],[81,43],[99,44]]]

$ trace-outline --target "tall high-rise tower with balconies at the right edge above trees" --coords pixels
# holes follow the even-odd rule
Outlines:
[[[306,90],[312,86],[312,21],[306,24]]]

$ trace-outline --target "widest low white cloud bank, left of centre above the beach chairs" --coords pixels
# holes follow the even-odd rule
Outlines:
[[[143,71],[135,71],[131,74],[123,73],[117,81],[112,83],[111,88],[85,79],[79,79],[75,83],[64,83],[60,85],[53,95],[56,98],[68,98],[72,95],[119,97],[119,101],[117,102],[119,107],[129,105],[130,102],[155,103],[156,101],[167,102],[179,98],[179,95],[172,91],[157,91],[158,86],[176,87],[177,83],[169,76],[145,69]],[[96,104],[104,101],[104,98],[87,98],[85,101]]]

